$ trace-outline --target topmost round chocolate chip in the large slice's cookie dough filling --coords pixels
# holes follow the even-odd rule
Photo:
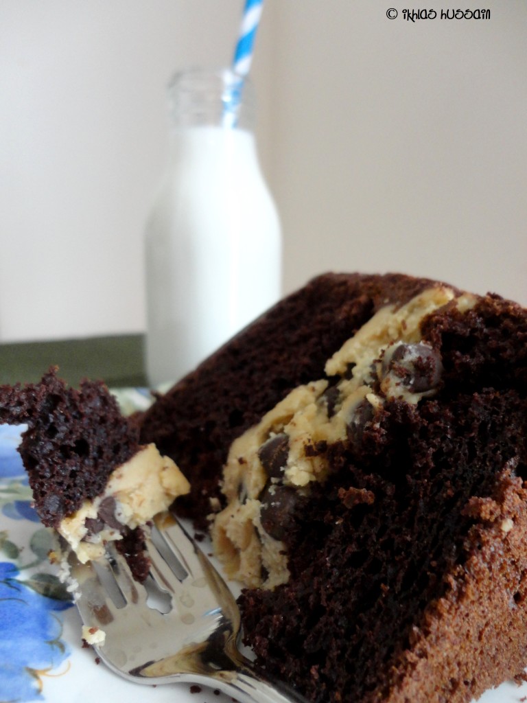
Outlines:
[[[426,393],[439,385],[441,355],[428,344],[399,344],[382,363],[384,375],[396,375],[412,393]]]

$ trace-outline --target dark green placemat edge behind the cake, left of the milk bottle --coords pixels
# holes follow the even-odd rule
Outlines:
[[[50,366],[58,366],[70,385],[91,378],[114,387],[144,386],[143,335],[0,344],[0,384],[34,383]]]

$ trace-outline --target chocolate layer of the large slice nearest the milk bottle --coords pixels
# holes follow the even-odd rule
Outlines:
[[[141,420],[190,480],[178,512],[207,527],[228,448],[290,390],[322,378],[333,352],[378,309],[403,303],[431,281],[401,274],[328,273],[286,297],[178,382]]]

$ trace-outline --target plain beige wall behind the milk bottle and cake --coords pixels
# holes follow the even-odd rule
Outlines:
[[[0,4],[0,342],[143,330],[164,86],[230,61],[242,4]],[[398,270],[527,304],[527,4],[407,5],[266,0],[253,77],[284,289]]]

